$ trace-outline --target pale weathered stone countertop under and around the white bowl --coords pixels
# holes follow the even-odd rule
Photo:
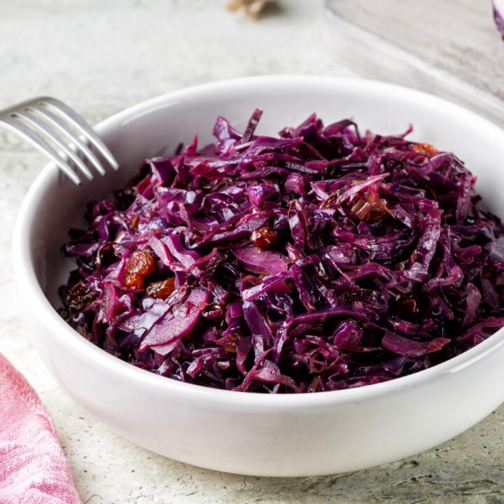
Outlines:
[[[225,1],[208,0],[2,0],[0,109],[50,94],[97,123],[125,106],[210,80],[270,73],[352,75],[321,39],[317,1],[283,0],[281,11],[260,22],[231,15],[224,6]],[[104,428],[38,360],[13,295],[15,214],[43,164],[41,155],[0,132],[0,351],[50,412],[83,503],[504,502],[504,407],[419,456],[304,479],[195,468]]]

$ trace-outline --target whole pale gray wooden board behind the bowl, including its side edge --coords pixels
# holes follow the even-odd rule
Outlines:
[[[325,0],[335,57],[504,125],[504,44],[491,0]]]

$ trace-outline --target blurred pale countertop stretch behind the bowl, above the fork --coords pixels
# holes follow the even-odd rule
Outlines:
[[[55,94],[89,117],[171,90],[270,73],[351,74],[323,49],[323,5],[253,20],[230,0],[2,0],[0,107]]]

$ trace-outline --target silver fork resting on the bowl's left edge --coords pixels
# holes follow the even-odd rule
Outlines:
[[[94,146],[113,169],[119,167],[116,158],[90,125],[68,105],[55,98],[35,98],[4,109],[0,111],[1,123],[30,141],[78,185],[80,177],[75,169],[89,180],[93,179],[93,174],[88,165],[92,165],[101,175],[106,173],[104,165],[91,151],[90,146]],[[58,133],[64,134],[66,141]],[[48,144],[48,140],[62,152],[55,151]],[[68,141],[73,146],[69,145]]]

